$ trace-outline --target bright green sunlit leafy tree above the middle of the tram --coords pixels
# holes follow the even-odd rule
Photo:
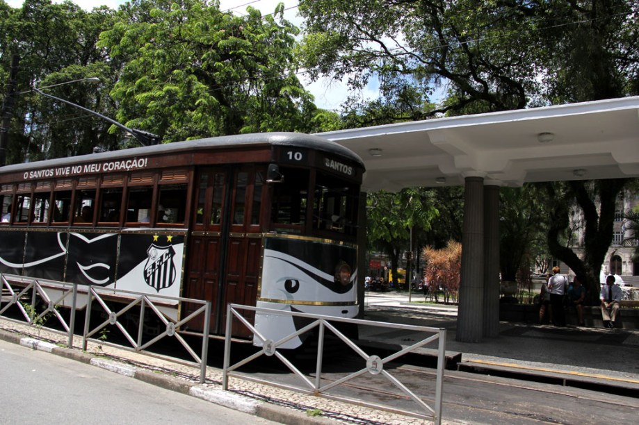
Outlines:
[[[99,47],[122,63],[111,91],[118,121],[166,142],[262,131],[307,131],[312,96],[296,76],[298,29],[205,0],[139,0],[120,8]]]

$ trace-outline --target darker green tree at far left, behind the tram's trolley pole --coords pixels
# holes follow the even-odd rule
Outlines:
[[[111,26],[112,11],[86,12],[71,2],[26,0],[20,9],[1,3],[0,14],[0,76],[8,69],[10,57],[19,55],[17,87],[23,92],[15,99],[8,163],[89,153],[96,144],[113,144],[115,138],[106,131],[110,124],[29,92],[34,86],[97,76],[104,85],[61,85],[47,92],[114,115],[113,104],[105,100],[112,71],[106,52],[95,47],[99,33]]]

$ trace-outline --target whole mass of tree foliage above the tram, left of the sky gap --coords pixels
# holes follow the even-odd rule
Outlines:
[[[0,4],[0,89],[21,57],[8,163],[75,156],[138,142],[105,120],[29,88],[160,135],[165,142],[212,135],[343,128],[296,76],[298,28],[283,6],[262,16],[221,12],[205,0],[135,0],[118,11],[74,3]],[[5,91],[6,92],[6,91]]]

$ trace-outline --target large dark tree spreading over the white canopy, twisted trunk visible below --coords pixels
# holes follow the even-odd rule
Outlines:
[[[376,78],[382,88],[410,88],[411,99],[446,88],[440,106],[412,119],[639,94],[636,1],[306,0],[300,12],[312,76],[348,76],[355,90]],[[594,183],[591,192],[583,182],[547,185],[550,252],[591,296],[613,237],[608,208],[624,183]],[[569,205],[583,210],[583,259],[563,244]]]

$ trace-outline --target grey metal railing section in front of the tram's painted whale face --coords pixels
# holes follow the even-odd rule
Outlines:
[[[293,317],[303,317],[305,319],[309,319],[312,321],[307,326],[304,326],[300,330],[287,335],[286,337],[273,341],[266,338],[264,335],[259,333],[256,328],[246,319],[240,311],[252,311],[256,314],[263,313],[268,315],[286,315]],[[236,318],[241,322],[246,328],[248,328],[254,334],[254,338],[257,340],[259,344],[262,344],[262,349],[257,351],[257,353],[244,358],[234,365],[230,365],[231,358],[231,330],[232,330],[232,322],[233,319]],[[392,353],[385,358],[380,358],[376,355],[369,355],[366,353],[361,347],[357,346],[353,340],[350,340],[348,336],[344,335],[341,331],[339,331],[332,322],[341,322],[347,324],[355,324],[357,326],[375,326],[380,328],[392,328],[403,331],[412,331],[412,332],[423,332],[428,333],[430,336],[428,338],[424,338],[423,340],[416,342],[410,347],[405,347],[395,353]],[[300,372],[300,369],[291,363],[291,360],[284,356],[282,351],[278,350],[278,347],[281,347],[283,344],[292,340],[293,338],[298,338],[298,336],[307,333],[309,331],[317,328],[318,333],[318,346],[317,346],[317,359],[316,359],[316,370],[315,370],[315,380],[311,381],[307,376]],[[339,340],[343,341],[350,349],[352,349],[358,356],[360,356],[364,360],[364,367],[362,369],[357,370],[356,372],[350,373],[347,376],[343,376],[339,378],[337,381],[333,381],[330,383],[323,384],[322,382],[322,360],[323,360],[323,351],[324,351],[324,340],[325,340],[325,330],[329,330],[334,335],[339,338]],[[435,403],[434,406],[429,406],[425,401],[423,401],[419,396],[417,396],[410,388],[407,387],[404,383],[398,380],[396,376],[393,376],[387,369],[385,369],[385,365],[387,363],[397,360],[401,356],[406,353],[410,353],[419,347],[423,347],[426,344],[430,344],[431,342],[437,341],[438,350],[437,350],[437,381],[435,383]],[[426,326],[413,326],[413,325],[405,325],[405,324],[390,324],[384,322],[373,322],[370,320],[362,320],[362,319],[343,319],[332,316],[323,316],[323,315],[312,315],[306,313],[293,313],[289,311],[283,310],[273,310],[270,308],[258,308],[252,306],[242,306],[238,304],[229,304],[227,307],[227,323],[226,323],[226,335],[225,335],[225,348],[224,348],[224,368],[223,368],[223,390],[228,390],[229,377],[233,376],[236,378],[241,378],[247,381],[253,381],[257,383],[264,383],[266,385],[273,385],[277,387],[282,387],[288,390],[294,390],[298,392],[304,392],[306,394],[313,394],[317,396],[322,396],[328,399],[334,399],[338,401],[346,401],[348,403],[357,403],[360,406],[367,406],[371,408],[377,408],[382,410],[387,410],[390,412],[397,412],[403,415],[410,415],[413,417],[419,417],[423,419],[433,419],[435,424],[440,424],[442,421],[442,390],[444,384],[444,366],[445,366],[445,347],[446,347],[446,329],[443,328],[430,328]],[[291,372],[295,376],[299,378],[302,385],[284,385],[282,383],[278,383],[275,381],[268,381],[267,379],[255,378],[254,376],[248,376],[246,374],[241,374],[239,372],[234,372],[239,367],[250,363],[252,360],[255,360],[261,356],[275,356],[279,360],[288,367]],[[327,391],[336,387],[337,385],[341,385],[342,383],[346,383],[346,381],[350,381],[358,376],[363,376],[364,374],[371,375],[380,375],[387,378],[391,383],[393,383],[396,387],[398,387],[404,394],[406,394],[416,406],[420,408],[422,412],[413,412],[407,410],[400,410],[398,408],[393,408],[391,406],[379,405],[375,403],[369,403],[367,401],[363,401],[361,399],[354,400],[349,399],[347,397],[341,397],[334,394],[328,394]],[[326,380],[325,380],[326,381]],[[425,412],[425,413],[424,413]]]

